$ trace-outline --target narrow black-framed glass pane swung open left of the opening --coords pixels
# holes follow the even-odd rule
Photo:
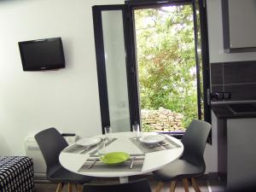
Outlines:
[[[114,132],[131,130],[124,13],[124,5],[93,7],[102,128]]]

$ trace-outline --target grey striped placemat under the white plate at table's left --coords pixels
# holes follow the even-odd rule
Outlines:
[[[105,143],[105,146],[108,146],[110,143],[113,143],[115,140],[117,140],[117,138],[113,138],[111,140],[108,140],[107,143]],[[72,153],[72,154],[86,154],[87,152],[89,152],[90,150],[92,150],[93,148],[97,148],[97,145],[93,145],[93,146],[89,146],[89,147],[84,147],[82,145],[79,144],[73,144],[72,146],[68,147],[68,148],[64,148],[63,152],[66,153]],[[96,154],[97,149],[93,150],[90,154]]]

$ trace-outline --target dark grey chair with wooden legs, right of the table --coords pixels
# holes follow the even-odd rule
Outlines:
[[[160,192],[166,182],[171,182],[170,192],[175,191],[177,179],[183,180],[185,192],[189,192],[189,179],[195,192],[201,191],[195,177],[200,177],[206,170],[203,154],[211,127],[212,125],[202,120],[190,123],[181,140],[184,147],[181,158],[153,172],[154,177],[159,180],[156,192]]]

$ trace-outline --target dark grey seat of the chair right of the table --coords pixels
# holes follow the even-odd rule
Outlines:
[[[196,166],[187,160],[175,160],[154,172],[154,176],[158,180],[166,182],[183,177],[198,177],[203,172],[205,172],[204,165]]]

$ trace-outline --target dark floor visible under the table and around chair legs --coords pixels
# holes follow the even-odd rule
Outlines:
[[[137,180],[142,179],[145,177],[132,177],[130,180]],[[154,189],[157,185],[156,180],[152,176],[147,176],[148,182],[150,184],[151,190],[154,192]],[[201,192],[224,192],[224,187],[218,180],[204,180],[204,179],[197,179]],[[91,183],[119,183],[119,180],[116,178],[96,178],[91,181]],[[161,192],[169,192],[169,184],[166,184],[165,187],[161,190]],[[54,183],[36,183],[35,184],[35,192],[55,192],[56,184]],[[67,186],[64,187],[63,192],[67,191]],[[76,191],[73,189],[73,191]],[[175,192],[183,192],[183,184],[181,181],[177,182],[177,187]],[[195,190],[192,187],[189,187],[189,192],[195,192]]]

